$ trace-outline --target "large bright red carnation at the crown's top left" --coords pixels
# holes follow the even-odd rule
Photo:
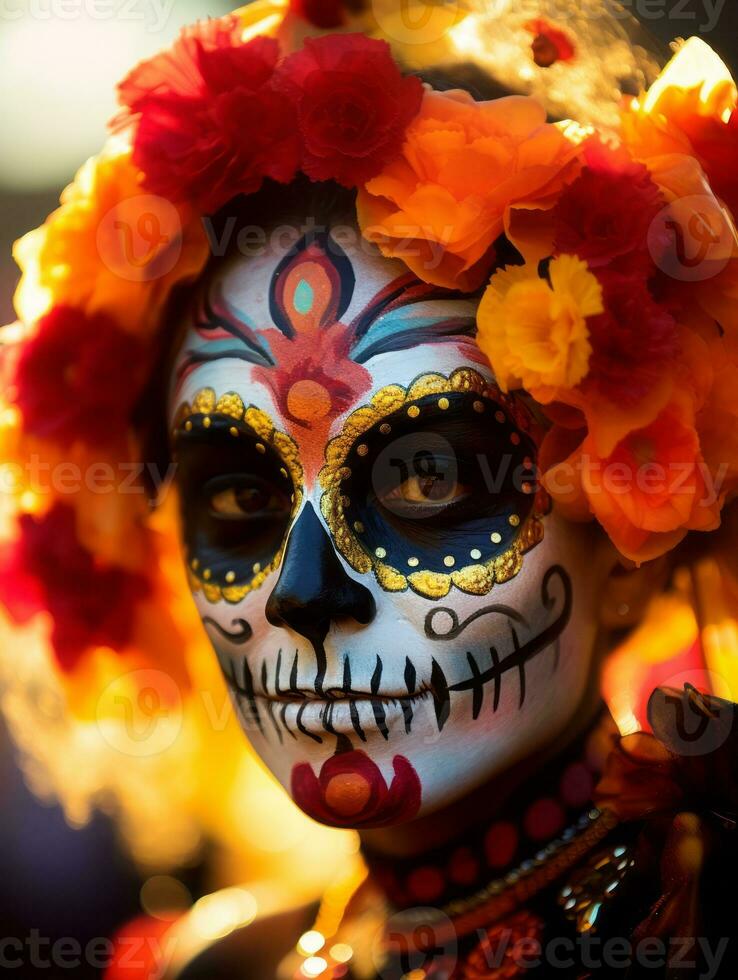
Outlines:
[[[272,84],[279,46],[240,36],[235,16],[185,28],[119,88],[138,116],[133,161],[146,188],[203,213],[253,194],[265,177],[288,183],[297,170],[294,113]]]

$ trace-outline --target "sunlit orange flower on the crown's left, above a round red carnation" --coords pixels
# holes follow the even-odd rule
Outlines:
[[[199,274],[208,252],[200,220],[146,194],[130,152],[111,148],[88,160],[61,207],[16,242],[16,310],[31,323],[52,306],[74,306],[149,334],[171,290]]]

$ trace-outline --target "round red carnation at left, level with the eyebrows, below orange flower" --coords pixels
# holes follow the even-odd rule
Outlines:
[[[143,345],[112,319],[55,307],[15,366],[25,431],[66,445],[115,443],[130,424],[144,368]]]

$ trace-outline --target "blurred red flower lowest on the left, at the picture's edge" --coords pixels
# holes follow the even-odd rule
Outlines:
[[[101,565],[77,539],[74,509],[57,503],[43,517],[25,514],[20,536],[0,554],[0,601],[18,622],[50,613],[54,653],[71,670],[91,646],[114,650],[131,636],[146,579]]]

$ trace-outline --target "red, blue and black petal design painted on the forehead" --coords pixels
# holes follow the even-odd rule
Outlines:
[[[368,261],[376,259],[360,254],[354,263],[329,232],[311,232],[274,269],[257,314],[236,309],[215,280],[201,297],[178,382],[201,364],[240,360],[254,366],[251,378],[272,393],[288,427],[327,430],[371,387],[366,365],[376,355],[473,336],[469,298],[411,273],[364,299],[357,274]]]

